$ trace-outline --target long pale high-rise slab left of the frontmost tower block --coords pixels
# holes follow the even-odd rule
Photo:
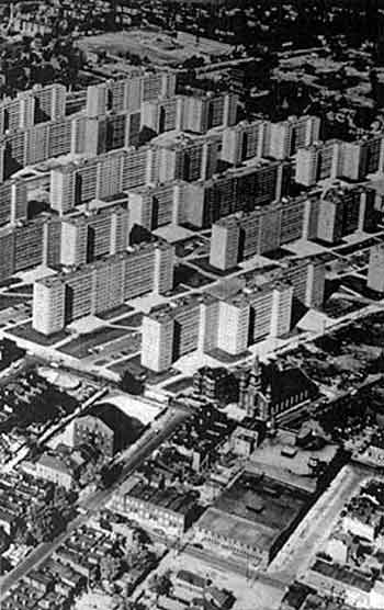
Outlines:
[[[50,335],[74,319],[112,309],[128,298],[167,292],[172,276],[173,248],[150,242],[43,278],[34,283],[33,328]],[[54,305],[57,313],[52,310]]]

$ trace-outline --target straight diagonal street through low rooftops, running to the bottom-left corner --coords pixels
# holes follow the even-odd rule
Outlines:
[[[155,449],[161,444],[174,429],[188,417],[188,413],[181,409],[168,409],[163,418],[157,420],[154,425],[156,429],[149,428],[143,437],[123,455],[123,470],[116,482],[106,489],[100,489],[91,494],[81,502],[86,513],[74,519],[67,527],[66,531],[57,536],[53,542],[39,544],[30,555],[20,563],[14,569],[7,574],[0,583],[0,601],[4,599],[9,589],[15,585],[18,580],[26,576],[29,572],[35,569],[44,560],[46,560],[69,534],[86,523],[88,519],[98,510],[100,510],[112,497],[114,490],[137,468]],[[161,428],[160,428],[161,427]]]

